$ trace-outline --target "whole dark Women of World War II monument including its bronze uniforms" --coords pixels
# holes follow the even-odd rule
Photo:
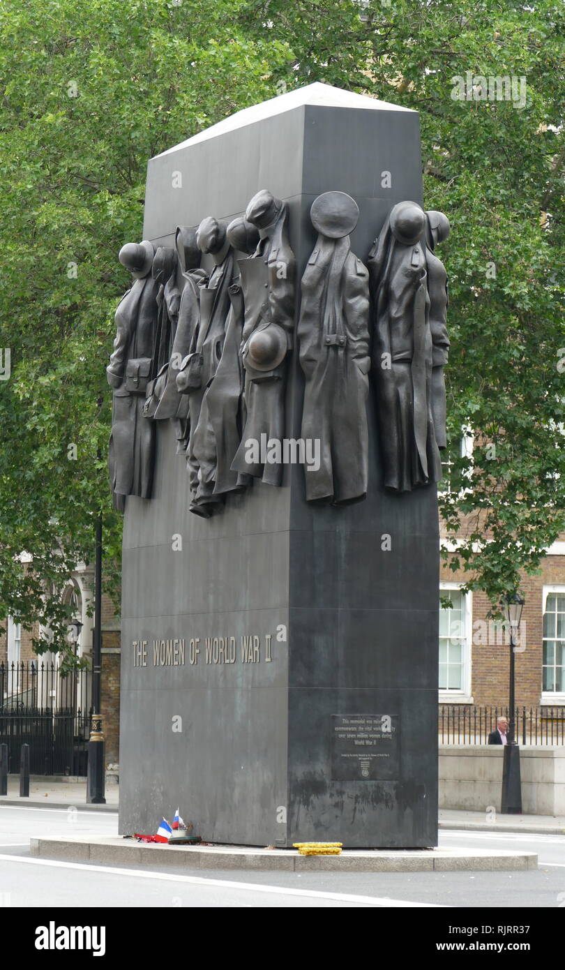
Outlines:
[[[208,842],[436,844],[449,222],[422,202],[418,114],[321,83],[149,161],[109,367],[123,834],[179,805]]]

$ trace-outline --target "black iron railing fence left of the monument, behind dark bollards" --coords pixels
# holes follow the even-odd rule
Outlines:
[[[85,775],[91,714],[89,670],[64,676],[55,663],[0,663],[0,743],[11,772],[28,744],[31,774]]]

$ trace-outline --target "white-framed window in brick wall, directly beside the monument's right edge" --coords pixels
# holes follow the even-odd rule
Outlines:
[[[442,606],[450,599],[451,607]],[[439,606],[439,700],[440,703],[472,704],[471,650],[473,645],[473,595],[462,593],[460,583],[440,583]]]

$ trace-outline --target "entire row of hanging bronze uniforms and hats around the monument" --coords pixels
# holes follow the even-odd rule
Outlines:
[[[448,238],[449,221],[414,202],[396,204],[367,271],[351,250],[354,199],[325,192],[310,218],[318,237],[301,279],[300,442],[314,443],[319,461],[306,463],[306,500],[365,498],[369,378],[385,487],[403,493],[438,481],[450,340],[447,274],[435,248]],[[288,222],[286,203],[263,189],[228,227],[206,216],[198,228],[177,227],[174,248],[154,252],[144,241],[120,250],[134,283],[116,310],[108,367],[116,508],[123,510],[127,495],[151,495],[156,421],[173,420],[190,510],[204,518],[253,478],[280,485],[284,461],[297,460],[285,459],[281,447],[289,440],[285,396],[295,322]],[[201,268],[203,253],[209,270]]]

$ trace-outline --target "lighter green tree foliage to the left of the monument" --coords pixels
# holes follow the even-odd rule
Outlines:
[[[61,589],[92,558],[100,510],[107,571],[119,562],[105,368],[130,285],[116,254],[140,238],[147,159],[272,95],[272,69],[289,59],[271,38],[246,38],[236,9],[0,7],[0,346],[12,359],[0,384],[0,602],[50,628],[39,650],[67,650]]]

